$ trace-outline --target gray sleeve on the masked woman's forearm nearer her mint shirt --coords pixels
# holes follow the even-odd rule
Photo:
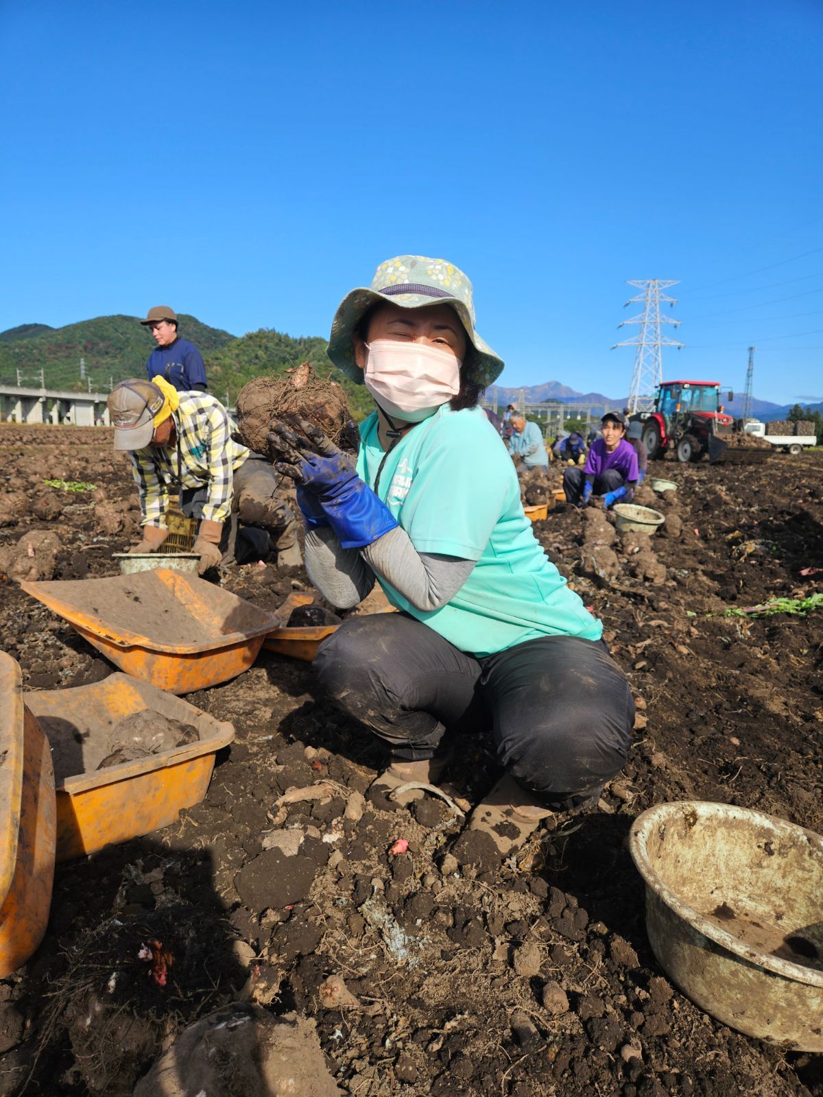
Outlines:
[[[399,525],[360,550],[372,573],[407,598],[416,610],[439,610],[456,595],[475,561],[418,553]]]

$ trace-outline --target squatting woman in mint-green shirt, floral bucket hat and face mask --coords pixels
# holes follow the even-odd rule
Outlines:
[[[312,583],[351,608],[376,580],[399,612],[343,621],[314,666],[387,749],[377,806],[438,783],[453,733],[492,736],[503,777],[454,853],[493,864],[553,812],[597,801],[625,761],[632,697],[477,406],[503,361],[475,329],[465,274],[419,256],[382,263],[339,306],[328,354],[377,404],[357,463],[309,423],[269,441],[298,485]]]

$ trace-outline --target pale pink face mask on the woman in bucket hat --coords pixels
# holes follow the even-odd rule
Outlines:
[[[365,387],[390,416],[421,422],[460,392],[461,361],[416,342],[365,343]]]

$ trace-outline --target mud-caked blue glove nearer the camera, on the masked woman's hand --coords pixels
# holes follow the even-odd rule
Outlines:
[[[270,452],[280,457],[274,467],[319,502],[342,547],[363,548],[396,529],[397,519],[351,460],[313,423],[303,420],[301,430],[305,437],[281,422],[267,434]]]

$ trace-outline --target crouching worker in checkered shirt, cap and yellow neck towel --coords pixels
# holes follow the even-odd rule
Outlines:
[[[169,534],[166,512],[179,505],[199,520],[192,552],[201,575],[218,564],[277,553],[301,561],[297,523],[279,497],[266,459],[232,439],[226,409],[206,393],[179,393],[164,377],[121,381],[109,396],[114,449],[127,450],[140,500],[143,540],[132,553],[157,552]]]

